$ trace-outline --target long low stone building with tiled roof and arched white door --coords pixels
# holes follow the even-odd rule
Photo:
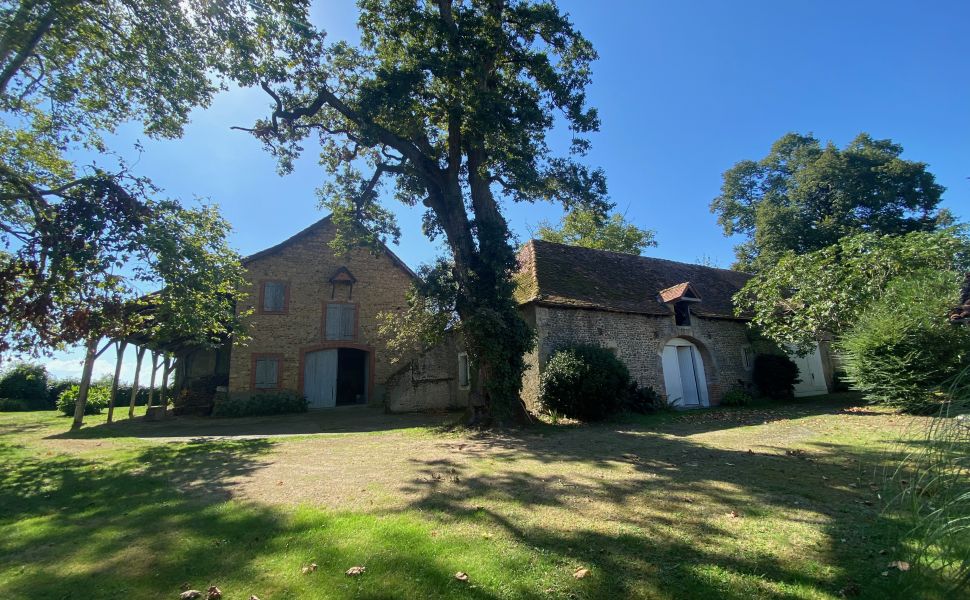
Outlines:
[[[537,343],[522,397],[534,407],[549,357],[567,343],[612,349],[640,386],[683,408],[716,405],[751,383],[754,349],[732,297],[749,276],[659,258],[532,240],[519,253],[518,301]],[[798,395],[828,389],[823,354],[796,359]]]

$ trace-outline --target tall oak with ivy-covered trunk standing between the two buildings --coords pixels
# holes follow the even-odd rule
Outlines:
[[[577,160],[599,120],[587,105],[591,44],[554,2],[360,0],[361,44],[308,36],[288,64],[259,70],[272,114],[250,128],[283,171],[313,137],[331,176],[323,204],[339,243],[396,239],[385,181],[426,209],[450,251],[453,308],[497,418],[521,410],[531,332],[512,300],[515,250],[503,201],[604,212],[603,173]],[[548,139],[564,125],[571,144]],[[363,225],[363,228],[355,227]],[[447,287],[447,286],[444,286]]]

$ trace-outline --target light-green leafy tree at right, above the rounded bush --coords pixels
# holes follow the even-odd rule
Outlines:
[[[749,280],[734,300],[738,314],[750,314],[766,337],[807,349],[852,327],[890,281],[924,269],[970,270],[963,231],[863,233],[816,252],[788,253]]]

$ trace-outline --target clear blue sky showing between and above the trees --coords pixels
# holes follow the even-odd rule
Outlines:
[[[593,42],[591,103],[601,132],[588,160],[607,173],[617,208],[657,232],[647,254],[728,266],[725,238],[708,205],[721,173],[763,157],[786,132],[813,132],[844,145],[859,132],[891,138],[904,157],[929,164],[946,186],[943,205],[970,219],[970,3],[964,1],[778,2],[560,0]],[[314,20],[330,39],[357,39],[352,0],[318,1]],[[247,134],[267,114],[258,90],[232,90],[196,111],[185,137],[146,140],[136,172],[170,196],[208,198],[233,224],[233,243],[249,254],[323,216],[314,190],[325,174],[309,153],[292,175]],[[134,153],[130,153],[134,156]],[[421,235],[420,213],[397,205],[402,239],[392,248],[416,267],[437,249]],[[548,204],[507,206],[524,241],[529,227],[555,220]],[[99,361],[109,372],[113,358]],[[59,376],[80,373],[80,354],[47,361]],[[128,360],[130,377],[132,360]]]

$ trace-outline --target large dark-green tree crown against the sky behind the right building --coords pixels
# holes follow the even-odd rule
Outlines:
[[[744,235],[736,267],[760,271],[858,233],[900,235],[952,224],[938,209],[943,186],[926,163],[900,158],[892,140],[859,134],[845,148],[789,133],[760,161],[724,173],[711,212],[725,235]]]

